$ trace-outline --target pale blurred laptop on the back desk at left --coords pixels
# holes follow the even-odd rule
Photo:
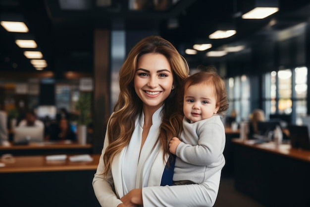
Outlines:
[[[44,139],[43,127],[15,127],[14,144],[27,144],[29,142],[42,142]]]

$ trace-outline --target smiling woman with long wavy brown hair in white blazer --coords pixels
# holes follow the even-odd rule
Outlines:
[[[182,131],[180,89],[188,73],[185,59],[158,36],[144,38],[128,54],[119,71],[120,94],[93,179],[102,207],[215,203],[220,171],[203,184],[167,185],[173,172],[168,143]]]

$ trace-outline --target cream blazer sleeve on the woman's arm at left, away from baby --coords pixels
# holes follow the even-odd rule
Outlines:
[[[97,171],[93,179],[93,188],[97,200],[102,207],[117,207],[122,202],[117,198],[116,194],[113,191],[112,175],[111,173],[109,173],[109,175],[106,178],[104,178],[103,176],[103,170],[104,170],[103,154],[106,150],[107,145],[108,145],[108,138],[107,135],[105,134],[103,150],[100,156]]]

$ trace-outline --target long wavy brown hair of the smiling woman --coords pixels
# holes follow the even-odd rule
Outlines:
[[[182,131],[182,82],[189,74],[186,60],[176,48],[160,36],[150,36],[138,42],[129,52],[127,59],[119,71],[120,93],[114,107],[108,127],[109,145],[103,155],[105,169],[103,175],[111,170],[112,160],[129,144],[135,128],[135,120],[142,113],[142,101],[134,89],[134,76],[137,63],[142,55],[159,53],[164,55],[173,73],[174,90],[166,98],[162,109],[162,120],[158,140],[163,154],[169,154],[168,143],[172,137],[177,137]],[[163,157],[164,159],[164,157]]]

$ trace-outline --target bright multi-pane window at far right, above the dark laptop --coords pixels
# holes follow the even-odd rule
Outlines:
[[[307,67],[272,71],[264,75],[264,111],[291,115],[292,123],[301,123],[307,115]]]

